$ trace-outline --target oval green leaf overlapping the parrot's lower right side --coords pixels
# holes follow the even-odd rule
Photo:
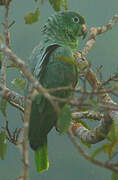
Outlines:
[[[70,123],[72,122],[71,110],[68,104],[64,105],[58,116],[57,127],[59,134],[67,132]]]

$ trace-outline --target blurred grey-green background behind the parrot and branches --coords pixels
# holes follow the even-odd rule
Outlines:
[[[34,25],[26,25],[24,16],[29,12],[34,12],[40,5],[40,22]],[[71,10],[79,10],[86,17],[87,26],[101,26],[106,24],[114,14],[118,14],[118,1],[116,0],[68,0],[68,7]],[[48,16],[54,13],[48,2],[43,5],[40,2],[13,1],[10,9],[10,22],[15,20],[11,28],[11,45],[13,51],[24,61],[28,61],[32,49],[39,43],[40,27]],[[4,8],[0,7],[0,22],[3,21]],[[0,33],[3,28],[0,24]],[[86,41],[86,40],[85,40]],[[80,40],[80,49],[85,41]],[[95,70],[99,65],[103,65],[103,77],[107,79],[118,70],[118,25],[113,27],[108,33],[97,37],[97,42],[88,56],[92,68]],[[13,89],[10,81],[20,74],[17,70],[8,70],[8,87]],[[20,113],[17,109],[8,106],[9,127],[14,130],[22,127]],[[5,120],[0,113],[0,126],[5,125]],[[34,153],[30,149],[30,180],[110,180],[111,172],[97,167],[86,161],[77,149],[73,146],[67,135],[59,136],[53,129],[48,136],[50,168],[47,172],[38,174],[34,165]],[[100,144],[100,143],[99,143]],[[99,146],[94,145],[92,149],[85,149],[91,152]],[[103,160],[103,154],[99,159]],[[22,156],[20,149],[9,143],[5,160],[0,159],[0,180],[15,180],[22,173]]]

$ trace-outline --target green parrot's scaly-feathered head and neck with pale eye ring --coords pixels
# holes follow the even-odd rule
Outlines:
[[[48,18],[42,32],[48,39],[77,50],[78,37],[84,39],[87,34],[85,18],[75,11],[57,12]]]

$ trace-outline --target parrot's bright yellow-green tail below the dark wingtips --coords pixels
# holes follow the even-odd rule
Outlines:
[[[44,143],[35,151],[35,164],[38,173],[48,170],[49,168],[47,136],[43,138],[43,140]]]

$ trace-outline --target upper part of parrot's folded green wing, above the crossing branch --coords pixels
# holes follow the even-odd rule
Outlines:
[[[35,74],[37,79],[45,88],[68,86],[77,80],[77,67],[74,63],[65,61],[65,59],[74,60],[71,49],[59,45],[54,46],[54,48],[55,49],[50,46],[49,51],[47,51],[45,58],[43,59],[41,67],[38,68],[37,66]]]

